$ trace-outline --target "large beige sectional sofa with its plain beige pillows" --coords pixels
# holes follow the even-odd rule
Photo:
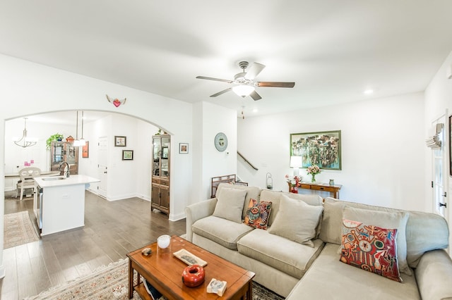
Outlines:
[[[268,230],[243,223],[250,199],[272,202]],[[340,261],[345,215],[396,222],[403,282]],[[448,226],[432,213],[221,184],[215,198],[186,207],[186,233],[287,299],[452,299]]]

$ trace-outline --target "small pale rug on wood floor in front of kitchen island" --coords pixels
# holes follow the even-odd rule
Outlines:
[[[4,215],[4,249],[39,241],[28,211]]]

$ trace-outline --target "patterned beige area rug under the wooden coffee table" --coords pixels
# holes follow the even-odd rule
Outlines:
[[[73,280],[59,287],[52,287],[37,296],[25,300],[66,300],[66,299],[129,299],[129,263],[121,259],[110,263],[107,267],[99,268],[92,274]],[[135,273],[136,276],[136,273]],[[135,278],[136,280],[136,278]],[[133,299],[141,297],[133,292]],[[284,299],[253,282],[253,300]]]

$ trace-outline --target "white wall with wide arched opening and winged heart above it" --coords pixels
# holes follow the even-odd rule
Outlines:
[[[172,148],[179,142],[191,144],[192,106],[183,101],[139,91],[111,82],[49,68],[10,56],[0,55],[0,90],[5,102],[0,110],[0,174],[5,173],[4,138],[5,120],[51,111],[93,110],[120,112],[133,115],[161,127],[172,135]],[[115,107],[105,94],[127,97],[124,105]],[[191,182],[191,156],[172,156],[172,185],[170,220],[184,217],[189,203]],[[181,168],[182,167],[182,168]],[[3,249],[4,176],[0,176],[0,249]],[[3,251],[0,251],[0,263]],[[4,267],[0,265],[0,277]]]

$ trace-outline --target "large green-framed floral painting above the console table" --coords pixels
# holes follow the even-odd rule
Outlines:
[[[342,170],[340,130],[290,134],[290,156],[302,156],[302,167]]]

